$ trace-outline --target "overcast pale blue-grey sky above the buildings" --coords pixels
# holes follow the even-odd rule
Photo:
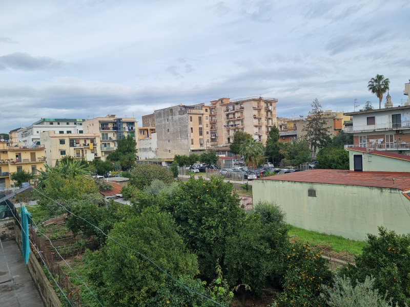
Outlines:
[[[0,0],[0,133],[40,118],[135,117],[222,97],[277,116],[407,101],[410,1]],[[384,98],[382,105],[384,103]]]

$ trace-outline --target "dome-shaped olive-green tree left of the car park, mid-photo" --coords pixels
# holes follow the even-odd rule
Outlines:
[[[150,185],[154,179],[159,179],[164,183],[171,183],[174,181],[174,176],[172,171],[166,167],[153,163],[139,163],[131,170],[129,184],[142,189],[146,185]]]

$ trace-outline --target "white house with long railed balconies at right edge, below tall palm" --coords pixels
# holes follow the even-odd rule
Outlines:
[[[404,84],[404,95],[408,96],[410,83]],[[353,143],[370,149],[389,150],[410,155],[410,105],[393,107],[390,95],[386,96],[384,108],[370,111],[345,113],[351,117],[345,133],[353,134]]]

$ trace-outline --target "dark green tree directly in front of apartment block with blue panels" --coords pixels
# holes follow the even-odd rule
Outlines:
[[[137,142],[132,136],[118,140],[117,148],[107,156],[109,161],[119,161],[121,167],[129,169],[135,165]]]

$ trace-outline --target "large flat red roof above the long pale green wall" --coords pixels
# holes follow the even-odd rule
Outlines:
[[[395,181],[393,182],[393,178]],[[259,180],[355,185],[410,190],[410,175],[397,172],[351,172],[340,169],[314,169],[264,177]]]

